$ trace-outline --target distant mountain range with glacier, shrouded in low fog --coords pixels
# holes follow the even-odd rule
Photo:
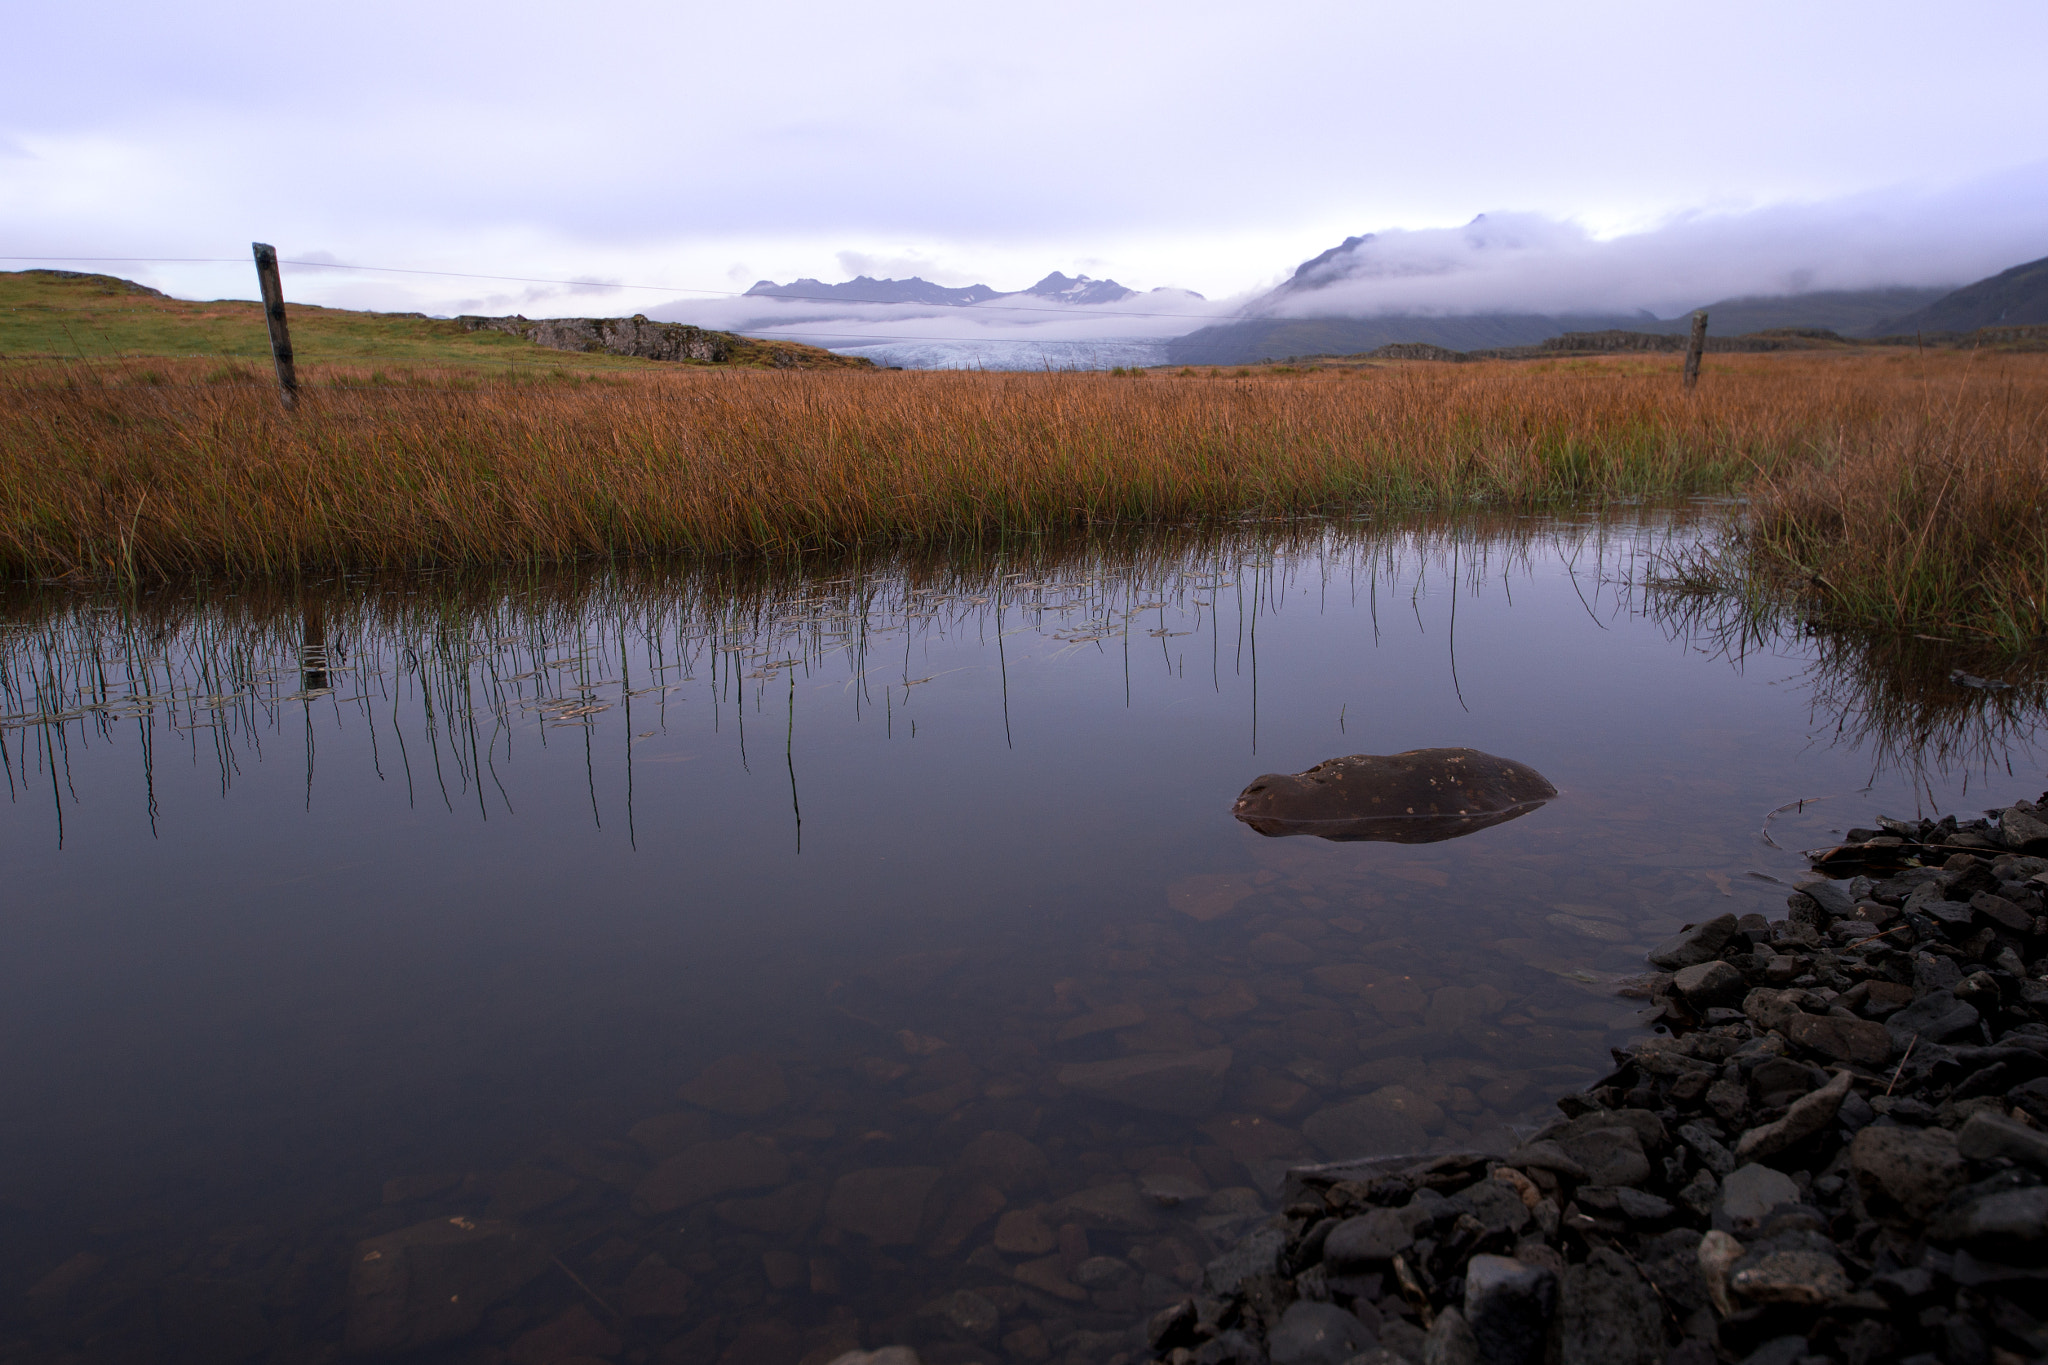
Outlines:
[[[1942,190],[1690,213],[1616,235],[1513,211],[1362,231],[1270,289],[1223,301],[1061,272],[1020,291],[858,276],[762,280],[743,299],[655,315],[887,364],[989,366],[1243,364],[1386,342],[1528,346],[1559,332],[1673,332],[1696,307],[1724,336],[1788,325],[1874,336],[2044,248],[2048,162]],[[2009,313],[2017,305],[2007,295],[1978,311]]]

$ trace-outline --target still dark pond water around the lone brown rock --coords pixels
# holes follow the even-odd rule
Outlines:
[[[1604,1072],[1645,948],[1796,849],[2040,788],[2007,694],[1645,591],[1692,534],[20,598],[0,1359],[332,1359],[428,1220],[545,1257],[420,1359],[1112,1359],[1288,1164]],[[1561,796],[1231,819],[1436,745]]]

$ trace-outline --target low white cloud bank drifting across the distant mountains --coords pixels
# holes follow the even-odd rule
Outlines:
[[[854,350],[885,364],[1143,364],[1198,327],[1288,317],[1673,317],[1743,297],[1950,289],[2048,256],[2048,162],[1944,190],[1884,190],[1745,213],[1690,213],[1602,237],[1536,213],[1362,233],[1270,293],[1153,291],[1114,305],[1010,295],[971,307],[805,299],[678,301],[672,321]],[[870,258],[842,264],[870,266]],[[1206,336],[1206,334],[1204,334]]]

